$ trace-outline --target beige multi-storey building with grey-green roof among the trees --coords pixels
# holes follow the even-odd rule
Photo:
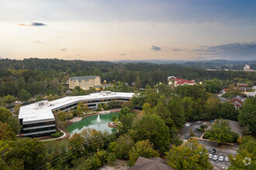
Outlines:
[[[69,79],[69,88],[80,87],[89,90],[91,87],[101,86],[100,76],[73,76]]]

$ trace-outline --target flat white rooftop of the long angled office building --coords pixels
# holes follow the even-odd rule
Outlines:
[[[35,104],[29,104],[20,107],[19,119],[23,119],[23,124],[33,124],[43,121],[54,121],[53,110],[58,110],[62,107],[68,106],[70,104],[77,104],[80,101],[86,100],[104,100],[112,98],[128,98],[131,99],[134,93],[120,93],[120,92],[109,92],[103,91],[102,93],[91,93],[85,96],[76,97],[63,97],[58,100],[53,100],[47,103],[45,101],[43,106],[39,106],[37,102]]]

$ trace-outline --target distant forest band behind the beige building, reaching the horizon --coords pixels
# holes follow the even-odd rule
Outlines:
[[[136,80],[141,87],[167,83],[168,76],[196,82],[218,79],[225,84],[256,83],[256,74],[242,71],[207,71],[177,64],[110,63],[62,59],[0,59],[0,97],[12,95],[31,97],[42,94],[62,96],[71,76],[101,76],[106,83],[123,82],[133,86]],[[21,91],[22,90],[22,91]],[[26,95],[25,95],[26,96]]]

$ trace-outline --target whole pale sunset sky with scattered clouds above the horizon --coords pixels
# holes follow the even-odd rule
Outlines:
[[[0,0],[0,57],[256,59],[256,1]]]

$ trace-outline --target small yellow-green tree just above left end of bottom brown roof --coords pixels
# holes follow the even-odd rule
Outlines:
[[[130,165],[134,165],[139,156],[144,158],[159,157],[158,151],[154,150],[153,144],[150,141],[138,141],[135,146],[129,151]]]

